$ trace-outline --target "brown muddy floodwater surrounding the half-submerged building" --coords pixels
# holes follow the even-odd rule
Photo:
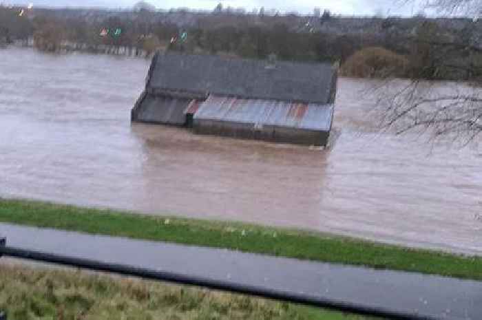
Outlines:
[[[332,149],[131,125],[148,61],[0,50],[0,196],[482,254],[482,151],[377,134],[339,81]]]

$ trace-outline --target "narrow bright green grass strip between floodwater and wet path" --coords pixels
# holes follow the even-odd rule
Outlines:
[[[482,279],[482,257],[250,224],[147,216],[25,200],[0,200],[0,222]]]

